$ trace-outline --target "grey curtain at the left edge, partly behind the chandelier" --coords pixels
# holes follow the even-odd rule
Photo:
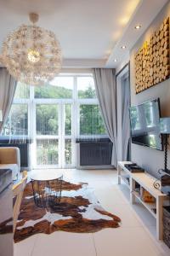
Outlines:
[[[3,125],[8,118],[8,113],[14,99],[15,90],[16,81],[8,73],[5,67],[0,67],[0,110],[3,111],[3,121],[0,122],[0,133],[3,130]]]

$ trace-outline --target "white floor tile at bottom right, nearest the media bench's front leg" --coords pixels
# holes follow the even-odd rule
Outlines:
[[[98,256],[161,255],[143,228],[102,230],[93,236]]]

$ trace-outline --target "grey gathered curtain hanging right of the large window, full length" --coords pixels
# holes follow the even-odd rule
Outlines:
[[[111,165],[116,166],[116,75],[115,69],[94,68],[94,81],[105,128],[113,143]]]

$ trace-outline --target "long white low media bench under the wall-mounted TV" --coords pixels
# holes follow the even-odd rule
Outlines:
[[[163,224],[162,224],[162,212],[163,206],[168,205],[169,201],[167,195],[161,193],[159,189],[154,188],[154,182],[156,181],[155,177],[151,177],[146,172],[129,172],[128,169],[124,166],[125,164],[131,164],[127,161],[119,161],[117,165],[117,175],[118,175],[118,184],[121,184],[121,180],[127,184],[127,187],[130,189],[130,202],[135,203],[135,199],[138,199],[144,207],[156,218],[156,236],[157,239],[161,240],[163,235]],[[139,184],[139,191],[136,191],[135,185]],[[141,199],[140,191],[141,188],[147,190],[150,195],[152,195],[156,202],[155,203],[146,203]]]

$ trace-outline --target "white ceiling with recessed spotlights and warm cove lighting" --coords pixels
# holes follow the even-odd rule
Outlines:
[[[40,15],[38,26],[52,30],[59,39],[64,67],[116,67],[166,2],[0,0],[0,47],[9,32],[30,23],[28,14],[34,11]],[[138,23],[139,32],[134,30]],[[122,50],[122,44],[127,49]]]

